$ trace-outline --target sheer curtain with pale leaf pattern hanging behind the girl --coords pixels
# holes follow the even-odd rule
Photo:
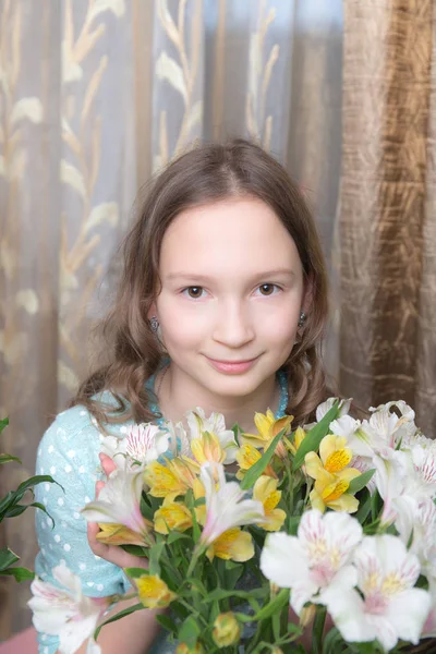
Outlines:
[[[341,14],[341,0],[0,0],[0,416],[2,451],[23,460],[1,493],[33,474],[93,365],[138,190],[192,141],[258,138],[304,187],[338,270]],[[28,567],[33,523],[0,532]],[[28,585],[1,589],[4,638],[31,615]]]

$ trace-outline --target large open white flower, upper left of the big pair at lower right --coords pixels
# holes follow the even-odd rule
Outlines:
[[[281,588],[291,589],[290,604],[300,615],[306,602],[325,604],[324,592],[342,594],[358,582],[351,566],[362,526],[349,513],[306,511],[296,536],[268,534],[261,570]]]

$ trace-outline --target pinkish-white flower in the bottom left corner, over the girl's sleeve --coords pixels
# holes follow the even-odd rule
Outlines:
[[[33,610],[35,629],[58,635],[59,652],[73,654],[93,635],[100,617],[112,603],[112,597],[84,595],[80,578],[65,564],[57,566],[52,572],[56,581],[63,588],[36,578],[31,585],[33,597],[27,605]],[[89,640],[87,652],[101,652],[94,639]]]

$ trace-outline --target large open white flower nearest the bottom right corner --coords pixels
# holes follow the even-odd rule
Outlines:
[[[389,651],[398,639],[416,644],[427,618],[432,598],[427,591],[412,588],[420,576],[420,562],[397,536],[365,536],[353,559],[360,593],[324,594],[327,610],[348,642],[377,639]]]

